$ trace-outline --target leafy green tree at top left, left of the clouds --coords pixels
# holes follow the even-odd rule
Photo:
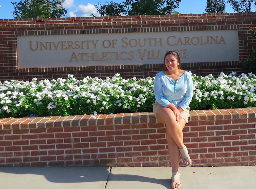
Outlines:
[[[19,3],[11,2],[15,11],[15,18],[52,18],[67,14],[62,7],[64,0],[21,0]]]

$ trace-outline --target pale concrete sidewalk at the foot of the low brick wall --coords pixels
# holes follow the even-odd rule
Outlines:
[[[181,189],[254,189],[256,166],[181,167]],[[1,189],[171,189],[170,167],[1,167]]]

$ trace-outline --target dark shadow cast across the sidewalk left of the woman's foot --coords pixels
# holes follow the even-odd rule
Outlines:
[[[21,179],[38,179],[39,177],[36,175],[42,175],[52,183],[138,181],[161,184],[166,188],[170,188],[170,179],[156,179],[134,174],[113,174],[110,170],[110,167],[0,167],[0,177],[4,173],[7,173],[5,177],[10,178],[10,180],[16,176]],[[29,175],[24,177],[22,176],[24,174]],[[2,177],[2,179],[5,177]]]

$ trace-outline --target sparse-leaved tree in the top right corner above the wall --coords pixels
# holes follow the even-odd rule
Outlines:
[[[228,0],[230,7],[236,12],[252,12],[255,11],[256,0]]]

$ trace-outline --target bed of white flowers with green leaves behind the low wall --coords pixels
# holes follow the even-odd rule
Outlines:
[[[192,75],[194,97],[191,110],[255,107],[255,74],[218,78]],[[155,102],[154,78],[123,79],[120,74],[102,80],[86,77],[0,82],[0,118],[28,116],[68,116],[152,112]]]

